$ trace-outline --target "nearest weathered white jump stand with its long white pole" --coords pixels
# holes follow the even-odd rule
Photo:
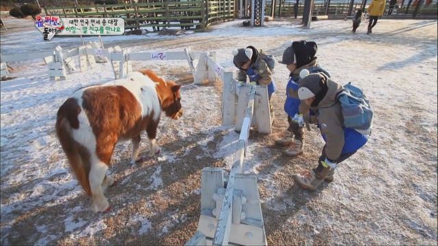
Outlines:
[[[267,245],[257,176],[242,174],[257,87],[242,86],[247,89],[248,101],[228,181],[222,168],[205,167],[202,171],[198,233],[186,245]]]

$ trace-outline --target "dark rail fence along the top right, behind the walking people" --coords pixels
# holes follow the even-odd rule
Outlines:
[[[315,0],[313,15],[328,15],[328,16],[350,16],[355,14],[356,10],[361,9],[365,3],[365,9],[372,0],[363,2],[362,0]],[[305,0],[276,0],[275,16],[289,17],[294,16],[298,3],[298,16],[304,12]],[[265,12],[270,15],[272,1],[266,3]],[[329,8],[327,8],[327,5]],[[389,12],[389,1],[387,1],[385,15]],[[398,0],[391,13],[393,16],[404,16],[411,18],[412,16],[437,16],[438,15],[438,0]]]

